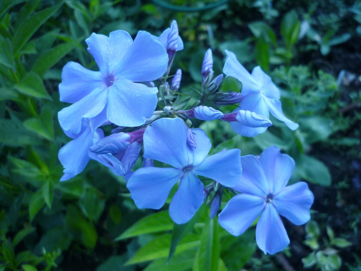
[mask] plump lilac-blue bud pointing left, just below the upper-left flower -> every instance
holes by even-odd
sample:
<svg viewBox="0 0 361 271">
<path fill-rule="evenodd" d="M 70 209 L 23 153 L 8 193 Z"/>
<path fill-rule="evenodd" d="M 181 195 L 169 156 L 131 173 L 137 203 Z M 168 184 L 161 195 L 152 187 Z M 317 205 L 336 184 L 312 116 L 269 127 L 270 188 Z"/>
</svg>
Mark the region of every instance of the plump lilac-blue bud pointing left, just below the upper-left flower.
<svg viewBox="0 0 361 271">
<path fill-rule="evenodd" d="M 125 150 L 131 142 L 131 136 L 127 133 L 111 134 L 104 137 L 90 147 L 90 151 L 95 154 L 116 154 Z"/>
</svg>

